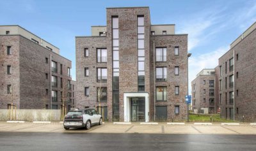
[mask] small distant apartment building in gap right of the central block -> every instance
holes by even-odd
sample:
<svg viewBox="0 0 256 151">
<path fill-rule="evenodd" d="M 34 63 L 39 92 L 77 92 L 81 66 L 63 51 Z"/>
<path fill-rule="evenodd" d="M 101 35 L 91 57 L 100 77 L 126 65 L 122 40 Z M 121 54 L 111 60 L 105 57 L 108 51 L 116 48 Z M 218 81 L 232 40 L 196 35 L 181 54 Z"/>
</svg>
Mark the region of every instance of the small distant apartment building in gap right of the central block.
<svg viewBox="0 0 256 151">
<path fill-rule="evenodd" d="M 216 113 L 215 69 L 203 69 L 191 82 L 194 113 Z"/>
</svg>

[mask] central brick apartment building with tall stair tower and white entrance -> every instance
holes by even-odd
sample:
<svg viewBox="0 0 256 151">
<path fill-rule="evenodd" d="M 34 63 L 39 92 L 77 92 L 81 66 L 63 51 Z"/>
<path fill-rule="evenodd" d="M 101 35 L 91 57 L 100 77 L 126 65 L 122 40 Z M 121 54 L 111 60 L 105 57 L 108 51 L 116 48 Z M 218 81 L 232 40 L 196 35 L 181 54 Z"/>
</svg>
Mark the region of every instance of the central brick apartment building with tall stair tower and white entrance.
<svg viewBox="0 0 256 151">
<path fill-rule="evenodd" d="M 75 106 L 105 121 L 186 120 L 188 34 L 152 25 L 148 7 L 106 13 L 106 26 L 76 37 Z"/>
</svg>

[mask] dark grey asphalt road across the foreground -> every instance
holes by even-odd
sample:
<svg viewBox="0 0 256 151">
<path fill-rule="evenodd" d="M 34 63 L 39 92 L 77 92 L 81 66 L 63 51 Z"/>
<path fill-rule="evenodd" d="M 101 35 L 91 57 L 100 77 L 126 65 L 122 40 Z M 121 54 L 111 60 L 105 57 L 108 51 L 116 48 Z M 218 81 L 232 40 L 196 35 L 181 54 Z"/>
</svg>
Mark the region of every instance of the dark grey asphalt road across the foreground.
<svg viewBox="0 0 256 151">
<path fill-rule="evenodd" d="M 0 150 L 256 150 L 256 135 L 0 132 Z"/>
</svg>

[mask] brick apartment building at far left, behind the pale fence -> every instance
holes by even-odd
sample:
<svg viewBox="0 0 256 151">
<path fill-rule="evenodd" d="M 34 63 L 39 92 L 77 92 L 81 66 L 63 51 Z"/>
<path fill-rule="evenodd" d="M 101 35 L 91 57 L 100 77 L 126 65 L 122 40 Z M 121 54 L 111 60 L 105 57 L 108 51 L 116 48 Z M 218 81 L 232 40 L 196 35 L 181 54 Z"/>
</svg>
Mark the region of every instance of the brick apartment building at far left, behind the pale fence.
<svg viewBox="0 0 256 151">
<path fill-rule="evenodd" d="M 19 25 L 0 25 L 0 108 L 60 109 L 71 105 L 71 61 Z"/>
</svg>

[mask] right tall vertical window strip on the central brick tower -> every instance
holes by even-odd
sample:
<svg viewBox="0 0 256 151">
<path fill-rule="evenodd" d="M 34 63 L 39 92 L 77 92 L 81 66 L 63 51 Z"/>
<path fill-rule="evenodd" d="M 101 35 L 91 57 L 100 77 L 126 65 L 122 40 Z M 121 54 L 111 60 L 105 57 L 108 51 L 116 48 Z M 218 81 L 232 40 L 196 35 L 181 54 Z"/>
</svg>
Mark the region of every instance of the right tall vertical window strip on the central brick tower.
<svg viewBox="0 0 256 151">
<path fill-rule="evenodd" d="M 145 91 L 144 16 L 138 16 L 138 91 Z"/>
</svg>

